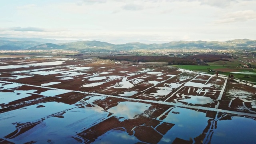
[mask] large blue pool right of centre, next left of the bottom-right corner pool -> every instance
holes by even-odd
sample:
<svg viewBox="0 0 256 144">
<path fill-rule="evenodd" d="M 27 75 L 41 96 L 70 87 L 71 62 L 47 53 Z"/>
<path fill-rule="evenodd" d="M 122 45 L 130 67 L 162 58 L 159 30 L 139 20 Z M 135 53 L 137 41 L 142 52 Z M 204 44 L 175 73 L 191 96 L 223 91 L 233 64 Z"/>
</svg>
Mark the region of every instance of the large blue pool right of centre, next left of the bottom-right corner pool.
<svg viewBox="0 0 256 144">
<path fill-rule="evenodd" d="M 172 112 L 178 112 L 179 114 Z M 163 121 L 175 125 L 163 136 L 159 144 L 170 144 L 175 138 L 184 140 L 195 138 L 202 134 L 208 125 L 207 121 L 209 119 L 203 112 L 186 108 L 173 108 Z"/>
</svg>

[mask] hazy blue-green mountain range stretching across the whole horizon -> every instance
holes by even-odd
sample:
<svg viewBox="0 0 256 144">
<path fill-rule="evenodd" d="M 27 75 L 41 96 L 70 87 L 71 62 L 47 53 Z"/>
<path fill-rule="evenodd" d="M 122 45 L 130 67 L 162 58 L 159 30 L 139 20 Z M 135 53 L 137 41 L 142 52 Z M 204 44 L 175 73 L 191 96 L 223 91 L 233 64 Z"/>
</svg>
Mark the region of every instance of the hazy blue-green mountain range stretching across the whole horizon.
<svg viewBox="0 0 256 144">
<path fill-rule="evenodd" d="M 163 44 L 131 42 L 110 44 L 100 41 L 69 41 L 43 38 L 0 38 L 0 50 L 156 50 L 156 49 L 244 49 L 256 48 L 256 40 L 236 39 L 219 41 L 173 41 Z"/>
</svg>

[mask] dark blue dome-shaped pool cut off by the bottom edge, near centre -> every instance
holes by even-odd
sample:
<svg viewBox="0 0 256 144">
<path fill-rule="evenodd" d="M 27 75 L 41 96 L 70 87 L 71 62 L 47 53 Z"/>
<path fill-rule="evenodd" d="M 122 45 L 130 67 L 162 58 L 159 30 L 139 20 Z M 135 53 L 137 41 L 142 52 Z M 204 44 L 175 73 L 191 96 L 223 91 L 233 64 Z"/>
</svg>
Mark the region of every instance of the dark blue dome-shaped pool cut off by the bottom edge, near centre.
<svg viewBox="0 0 256 144">
<path fill-rule="evenodd" d="M 130 136 L 127 132 L 121 130 L 110 130 L 99 136 L 93 143 L 94 144 L 136 144 L 140 142 L 135 136 Z"/>
</svg>

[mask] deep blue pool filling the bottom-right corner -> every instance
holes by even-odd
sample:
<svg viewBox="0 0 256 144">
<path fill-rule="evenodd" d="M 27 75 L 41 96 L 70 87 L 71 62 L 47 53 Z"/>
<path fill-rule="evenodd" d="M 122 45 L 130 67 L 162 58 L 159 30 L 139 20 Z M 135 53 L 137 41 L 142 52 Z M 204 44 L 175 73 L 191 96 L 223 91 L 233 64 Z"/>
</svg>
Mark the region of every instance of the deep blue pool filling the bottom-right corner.
<svg viewBox="0 0 256 144">
<path fill-rule="evenodd" d="M 212 135 L 212 144 L 254 144 L 256 121 L 233 116 L 232 120 L 219 120 Z"/>
</svg>

